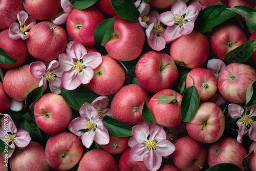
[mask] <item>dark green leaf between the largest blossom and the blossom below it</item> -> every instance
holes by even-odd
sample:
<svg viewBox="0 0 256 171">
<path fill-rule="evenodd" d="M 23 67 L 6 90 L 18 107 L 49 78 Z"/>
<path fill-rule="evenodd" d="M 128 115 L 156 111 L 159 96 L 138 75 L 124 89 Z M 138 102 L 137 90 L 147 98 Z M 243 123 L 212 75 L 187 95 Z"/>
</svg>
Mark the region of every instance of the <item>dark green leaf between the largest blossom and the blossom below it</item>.
<svg viewBox="0 0 256 171">
<path fill-rule="evenodd" d="M 85 102 L 92 103 L 99 96 L 83 86 L 79 86 L 75 90 L 61 89 L 60 92 L 65 101 L 78 111 Z"/>
</svg>

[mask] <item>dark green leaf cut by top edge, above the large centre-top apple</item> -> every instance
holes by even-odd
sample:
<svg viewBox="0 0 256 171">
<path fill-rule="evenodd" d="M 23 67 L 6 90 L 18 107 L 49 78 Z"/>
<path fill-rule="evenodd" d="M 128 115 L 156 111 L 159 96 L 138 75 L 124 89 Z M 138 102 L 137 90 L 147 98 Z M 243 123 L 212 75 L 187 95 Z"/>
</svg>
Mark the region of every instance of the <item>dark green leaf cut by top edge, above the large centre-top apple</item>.
<svg viewBox="0 0 256 171">
<path fill-rule="evenodd" d="M 111 0 L 111 3 L 118 16 L 137 22 L 140 12 L 131 0 Z"/>
</svg>

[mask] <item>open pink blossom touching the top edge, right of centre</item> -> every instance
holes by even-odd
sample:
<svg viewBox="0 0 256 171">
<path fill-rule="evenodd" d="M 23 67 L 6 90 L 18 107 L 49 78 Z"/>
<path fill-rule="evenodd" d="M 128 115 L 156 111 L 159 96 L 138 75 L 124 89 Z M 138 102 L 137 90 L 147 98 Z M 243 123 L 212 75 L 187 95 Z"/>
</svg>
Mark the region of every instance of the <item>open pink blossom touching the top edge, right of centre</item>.
<svg viewBox="0 0 256 171">
<path fill-rule="evenodd" d="M 191 33 L 195 26 L 195 21 L 199 14 L 199 9 L 195 5 L 187 6 L 184 1 L 177 1 L 173 4 L 170 11 L 159 15 L 161 23 L 167 26 L 164 31 L 166 42 Z"/>
</svg>

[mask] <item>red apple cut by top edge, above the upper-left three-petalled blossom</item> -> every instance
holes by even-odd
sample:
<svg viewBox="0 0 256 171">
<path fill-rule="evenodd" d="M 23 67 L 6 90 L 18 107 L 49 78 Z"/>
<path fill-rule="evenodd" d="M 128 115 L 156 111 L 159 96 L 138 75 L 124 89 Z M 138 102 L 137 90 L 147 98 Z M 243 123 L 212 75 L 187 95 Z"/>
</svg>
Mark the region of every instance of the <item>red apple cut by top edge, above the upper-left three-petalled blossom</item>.
<svg viewBox="0 0 256 171">
<path fill-rule="evenodd" d="M 24 2 L 26 12 L 38 20 L 47 20 L 60 9 L 60 0 L 26 0 Z"/>
</svg>

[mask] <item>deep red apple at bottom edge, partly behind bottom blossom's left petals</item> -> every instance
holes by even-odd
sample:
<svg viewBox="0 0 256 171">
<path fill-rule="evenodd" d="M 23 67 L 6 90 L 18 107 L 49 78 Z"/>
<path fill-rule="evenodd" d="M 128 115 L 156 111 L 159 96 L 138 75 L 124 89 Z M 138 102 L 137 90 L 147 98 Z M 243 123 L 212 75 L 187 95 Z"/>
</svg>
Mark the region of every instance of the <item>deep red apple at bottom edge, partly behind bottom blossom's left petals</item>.
<svg viewBox="0 0 256 171">
<path fill-rule="evenodd" d="M 119 171 L 147 171 L 148 169 L 146 168 L 146 165 L 143 161 L 132 161 L 130 159 L 131 149 L 131 147 L 127 148 L 121 155 L 118 162 Z"/>
</svg>

